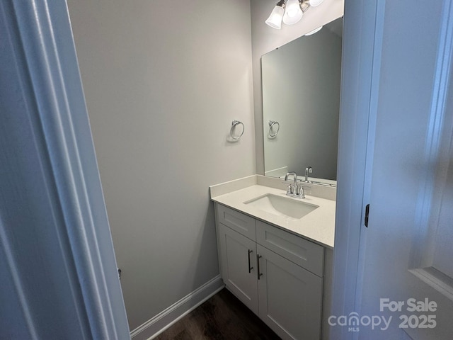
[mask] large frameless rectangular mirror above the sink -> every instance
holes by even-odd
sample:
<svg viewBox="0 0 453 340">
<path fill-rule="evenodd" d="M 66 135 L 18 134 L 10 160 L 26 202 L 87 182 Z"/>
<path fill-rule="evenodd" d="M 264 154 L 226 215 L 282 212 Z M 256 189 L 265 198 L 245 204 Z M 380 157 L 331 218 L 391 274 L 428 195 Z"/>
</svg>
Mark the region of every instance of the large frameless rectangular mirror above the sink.
<svg viewBox="0 0 453 340">
<path fill-rule="evenodd" d="M 342 32 L 338 18 L 261 58 L 265 175 L 336 183 Z"/>
</svg>

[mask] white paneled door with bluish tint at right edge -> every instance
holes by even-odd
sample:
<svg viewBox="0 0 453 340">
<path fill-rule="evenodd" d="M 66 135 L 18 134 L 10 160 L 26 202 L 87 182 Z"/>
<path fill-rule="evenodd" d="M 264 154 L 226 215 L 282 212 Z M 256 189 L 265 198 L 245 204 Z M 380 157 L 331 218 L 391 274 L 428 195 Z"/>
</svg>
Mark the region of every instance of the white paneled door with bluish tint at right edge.
<svg viewBox="0 0 453 340">
<path fill-rule="evenodd" d="M 357 314 L 331 319 L 357 339 L 453 339 L 453 4 L 425 5 L 384 8 Z"/>
</svg>

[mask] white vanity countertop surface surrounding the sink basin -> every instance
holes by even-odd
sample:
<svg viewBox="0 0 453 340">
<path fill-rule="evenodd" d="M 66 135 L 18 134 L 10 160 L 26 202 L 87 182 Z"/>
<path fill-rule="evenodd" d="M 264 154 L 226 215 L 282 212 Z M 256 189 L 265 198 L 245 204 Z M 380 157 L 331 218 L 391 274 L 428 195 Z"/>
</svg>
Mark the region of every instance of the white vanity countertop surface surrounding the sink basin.
<svg viewBox="0 0 453 340">
<path fill-rule="evenodd" d="M 333 241 L 335 237 L 335 200 L 306 195 L 306 198 L 302 200 L 306 203 L 319 205 L 319 208 L 316 208 L 314 211 L 300 219 L 277 216 L 251 205 L 244 204 L 244 202 L 257 198 L 258 196 L 263 196 L 266 193 L 289 198 L 289 196 L 286 196 L 286 191 L 284 190 L 254 184 L 247 186 L 246 188 L 241 188 L 239 190 L 211 197 L 211 199 L 214 200 L 214 202 L 226 205 L 227 207 L 235 210 L 239 210 L 247 215 L 251 215 L 258 220 L 268 222 L 271 225 L 275 225 L 276 227 L 280 227 L 288 232 L 302 236 L 317 244 L 321 244 L 321 246 L 333 249 Z M 301 200 L 300 198 L 289 199 Z"/>
</svg>

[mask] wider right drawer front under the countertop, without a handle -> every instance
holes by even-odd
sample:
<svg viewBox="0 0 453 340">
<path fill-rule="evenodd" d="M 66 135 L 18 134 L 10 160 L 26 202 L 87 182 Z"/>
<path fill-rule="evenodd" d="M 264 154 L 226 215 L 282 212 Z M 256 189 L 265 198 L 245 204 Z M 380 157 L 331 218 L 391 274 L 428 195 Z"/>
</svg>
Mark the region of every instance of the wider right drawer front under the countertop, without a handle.
<svg viewBox="0 0 453 340">
<path fill-rule="evenodd" d="M 324 249 L 319 244 L 261 221 L 256 221 L 256 242 L 311 273 L 323 276 Z"/>
</svg>

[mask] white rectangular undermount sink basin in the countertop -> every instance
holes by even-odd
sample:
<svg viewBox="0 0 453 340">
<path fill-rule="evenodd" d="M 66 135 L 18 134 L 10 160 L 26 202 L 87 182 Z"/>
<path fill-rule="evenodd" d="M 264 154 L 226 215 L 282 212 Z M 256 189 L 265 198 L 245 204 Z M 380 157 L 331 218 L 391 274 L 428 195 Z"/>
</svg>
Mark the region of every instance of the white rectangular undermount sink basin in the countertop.
<svg viewBox="0 0 453 340">
<path fill-rule="evenodd" d="M 270 212 L 273 215 L 297 219 L 319 208 L 319 205 L 306 203 L 302 200 L 296 200 L 286 196 L 273 195 L 272 193 L 253 198 L 244 202 L 244 204 Z"/>
</svg>

